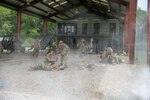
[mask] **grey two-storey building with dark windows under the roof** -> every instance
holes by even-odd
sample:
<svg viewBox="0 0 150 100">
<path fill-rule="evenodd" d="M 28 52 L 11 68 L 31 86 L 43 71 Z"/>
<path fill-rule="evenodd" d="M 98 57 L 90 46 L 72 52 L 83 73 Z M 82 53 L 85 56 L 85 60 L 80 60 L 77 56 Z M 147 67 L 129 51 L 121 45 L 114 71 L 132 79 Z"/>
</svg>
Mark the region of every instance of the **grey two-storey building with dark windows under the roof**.
<svg viewBox="0 0 150 100">
<path fill-rule="evenodd" d="M 122 47 L 122 41 L 118 37 L 120 36 L 117 19 L 105 19 L 86 13 L 75 19 L 57 22 L 58 41 L 63 40 L 71 48 L 76 48 L 77 43 L 84 38 L 96 53 L 106 46 L 119 49 Z"/>
</svg>

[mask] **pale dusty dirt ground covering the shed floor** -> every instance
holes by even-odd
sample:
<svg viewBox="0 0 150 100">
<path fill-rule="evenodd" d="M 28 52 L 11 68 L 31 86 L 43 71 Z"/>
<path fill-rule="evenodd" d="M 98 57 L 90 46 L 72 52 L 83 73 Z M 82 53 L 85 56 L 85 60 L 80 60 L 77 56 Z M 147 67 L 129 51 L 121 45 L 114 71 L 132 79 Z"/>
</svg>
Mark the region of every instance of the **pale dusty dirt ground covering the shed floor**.
<svg viewBox="0 0 150 100">
<path fill-rule="evenodd" d="M 43 63 L 31 52 L 0 58 L 0 100 L 150 100 L 149 68 L 99 63 L 97 55 L 71 52 L 68 68 L 31 71 Z"/>
</svg>

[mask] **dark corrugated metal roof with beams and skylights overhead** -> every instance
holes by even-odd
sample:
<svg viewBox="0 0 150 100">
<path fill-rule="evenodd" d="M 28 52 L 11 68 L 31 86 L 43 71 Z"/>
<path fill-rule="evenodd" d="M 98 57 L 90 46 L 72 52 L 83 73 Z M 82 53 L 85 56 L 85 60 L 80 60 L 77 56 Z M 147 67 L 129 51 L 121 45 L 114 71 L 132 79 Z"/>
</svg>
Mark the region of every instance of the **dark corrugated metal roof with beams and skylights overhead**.
<svg viewBox="0 0 150 100">
<path fill-rule="evenodd" d="M 0 5 L 37 17 L 67 20 L 85 12 L 105 18 L 124 18 L 129 0 L 0 0 Z"/>
</svg>

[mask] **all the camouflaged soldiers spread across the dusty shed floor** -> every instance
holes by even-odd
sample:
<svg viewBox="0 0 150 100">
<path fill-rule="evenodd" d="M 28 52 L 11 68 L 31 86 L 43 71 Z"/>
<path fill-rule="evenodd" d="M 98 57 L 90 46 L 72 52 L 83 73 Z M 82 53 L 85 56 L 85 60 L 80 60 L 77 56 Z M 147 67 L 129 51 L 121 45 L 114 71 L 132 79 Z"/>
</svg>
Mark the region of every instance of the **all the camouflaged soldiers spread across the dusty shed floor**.
<svg viewBox="0 0 150 100">
<path fill-rule="evenodd" d="M 77 48 L 79 49 L 79 56 L 82 57 L 83 55 L 87 54 L 88 44 L 85 39 L 81 39 L 78 44 Z M 2 44 L 0 44 L 0 50 L 2 50 Z M 33 57 L 38 57 L 40 51 L 40 44 L 39 40 L 35 39 L 34 43 L 32 44 Z M 59 41 L 57 45 L 57 49 L 51 49 L 47 55 L 45 56 L 44 64 L 38 64 L 32 66 L 32 69 L 42 69 L 42 70 L 63 70 L 67 67 L 67 59 L 70 53 L 70 48 L 67 44 L 63 41 Z M 100 59 L 102 62 L 113 63 L 116 61 L 114 57 L 113 49 L 111 47 L 105 48 L 103 53 L 100 55 Z"/>
</svg>

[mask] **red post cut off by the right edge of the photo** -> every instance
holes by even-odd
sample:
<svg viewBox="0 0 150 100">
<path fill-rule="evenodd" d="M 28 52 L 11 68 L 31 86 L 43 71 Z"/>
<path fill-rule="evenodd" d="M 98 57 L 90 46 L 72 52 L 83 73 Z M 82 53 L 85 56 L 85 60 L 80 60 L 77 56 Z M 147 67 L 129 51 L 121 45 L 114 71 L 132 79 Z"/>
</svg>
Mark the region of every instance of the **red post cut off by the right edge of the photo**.
<svg viewBox="0 0 150 100">
<path fill-rule="evenodd" d="M 148 0 L 147 64 L 150 65 L 150 0 Z"/>
</svg>

